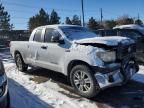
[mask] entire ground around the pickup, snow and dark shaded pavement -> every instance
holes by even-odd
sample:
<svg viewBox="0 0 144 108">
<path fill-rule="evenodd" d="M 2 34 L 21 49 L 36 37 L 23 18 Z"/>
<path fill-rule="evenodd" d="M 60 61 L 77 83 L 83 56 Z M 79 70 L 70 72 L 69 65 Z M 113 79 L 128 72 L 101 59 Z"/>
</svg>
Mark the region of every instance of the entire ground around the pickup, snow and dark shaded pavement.
<svg viewBox="0 0 144 108">
<path fill-rule="evenodd" d="M 0 50 L 7 76 L 12 108 L 142 108 L 144 107 L 144 66 L 133 81 L 114 87 L 89 100 L 75 94 L 66 77 L 46 69 L 19 72 L 9 50 Z"/>
</svg>

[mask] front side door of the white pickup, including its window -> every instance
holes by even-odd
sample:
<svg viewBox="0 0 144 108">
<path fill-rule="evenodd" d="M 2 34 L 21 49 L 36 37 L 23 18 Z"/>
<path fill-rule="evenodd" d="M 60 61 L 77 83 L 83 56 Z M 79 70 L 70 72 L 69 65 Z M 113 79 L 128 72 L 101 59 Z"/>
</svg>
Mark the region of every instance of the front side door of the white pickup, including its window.
<svg viewBox="0 0 144 108">
<path fill-rule="evenodd" d="M 62 61 L 64 59 L 65 44 L 60 44 L 53 41 L 55 36 L 62 38 L 61 34 L 53 28 L 46 28 L 44 35 L 44 43 L 42 44 L 40 52 L 42 54 L 41 61 L 44 63 L 44 67 L 62 72 Z"/>
</svg>

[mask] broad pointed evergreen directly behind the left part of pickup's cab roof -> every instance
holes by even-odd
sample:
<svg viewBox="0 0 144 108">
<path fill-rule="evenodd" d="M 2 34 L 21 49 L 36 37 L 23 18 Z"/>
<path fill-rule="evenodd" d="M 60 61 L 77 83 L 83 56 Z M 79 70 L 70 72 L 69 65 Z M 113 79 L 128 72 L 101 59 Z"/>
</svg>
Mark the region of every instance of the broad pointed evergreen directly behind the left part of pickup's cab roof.
<svg viewBox="0 0 144 108">
<path fill-rule="evenodd" d="M 45 12 L 44 9 L 40 9 L 39 13 L 35 16 L 32 16 L 28 22 L 28 28 L 32 31 L 34 28 L 38 26 L 48 25 L 49 22 L 49 15 Z"/>
</svg>

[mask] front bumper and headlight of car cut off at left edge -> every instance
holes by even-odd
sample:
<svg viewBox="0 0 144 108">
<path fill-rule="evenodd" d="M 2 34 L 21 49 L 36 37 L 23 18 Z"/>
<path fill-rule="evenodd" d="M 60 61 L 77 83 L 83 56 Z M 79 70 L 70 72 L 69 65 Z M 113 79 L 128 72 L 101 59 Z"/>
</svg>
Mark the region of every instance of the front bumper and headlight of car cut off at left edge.
<svg viewBox="0 0 144 108">
<path fill-rule="evenodd" d="M 6 75 L 0 76 L 0 89 L 0 108 L 7 108 L 9 100 Z"/>
</svg>

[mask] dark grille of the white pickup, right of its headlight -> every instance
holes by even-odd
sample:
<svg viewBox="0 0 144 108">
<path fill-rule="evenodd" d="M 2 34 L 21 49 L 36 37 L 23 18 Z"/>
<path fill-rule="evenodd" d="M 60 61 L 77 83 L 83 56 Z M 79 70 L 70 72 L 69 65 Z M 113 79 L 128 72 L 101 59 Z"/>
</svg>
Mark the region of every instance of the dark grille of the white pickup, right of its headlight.
<svg viewBox="0 0 144 108">
<path fill-rule="evenodd" d="M 122 60 L 124 57 L 136 52 L 136 45 L 119 46 L 117 49 L 117 59 Z"/>
</svg>

